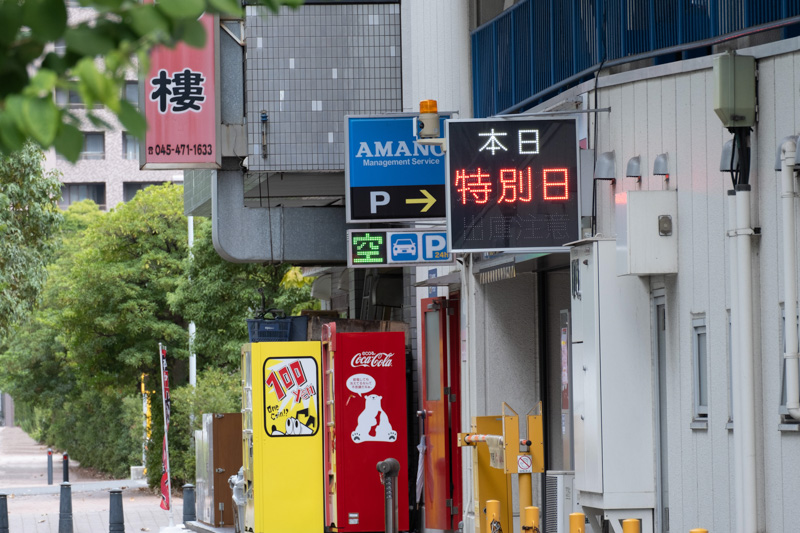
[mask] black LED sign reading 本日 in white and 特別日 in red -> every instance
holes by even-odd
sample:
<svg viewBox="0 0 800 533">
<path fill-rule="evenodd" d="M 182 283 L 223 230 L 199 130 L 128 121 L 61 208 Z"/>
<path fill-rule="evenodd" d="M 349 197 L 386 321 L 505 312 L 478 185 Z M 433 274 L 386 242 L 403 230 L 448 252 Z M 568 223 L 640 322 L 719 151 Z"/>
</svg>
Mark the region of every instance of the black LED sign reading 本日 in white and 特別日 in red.
<svg viewBox="0 0 800 533">
<path fill-rule="evenodd" d="M 449 120 L 451 252 L 566 251 L 578 240 L 574 118 Z"/>
</svg>

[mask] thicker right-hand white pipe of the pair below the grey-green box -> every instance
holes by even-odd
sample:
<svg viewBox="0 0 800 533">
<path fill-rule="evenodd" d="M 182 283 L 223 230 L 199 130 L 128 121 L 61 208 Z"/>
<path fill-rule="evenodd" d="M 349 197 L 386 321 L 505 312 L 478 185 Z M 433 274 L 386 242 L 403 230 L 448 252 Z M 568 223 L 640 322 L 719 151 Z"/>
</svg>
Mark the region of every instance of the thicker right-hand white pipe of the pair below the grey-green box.
<svg viewBox="0 0 800 533">
<path fill-rule="evenodd" d="M 736 255 L 739 311 L 739 398 L 741 420 L 736 421 L 736 431 L 742 432 L 740 460 L 742 462 L 743 531 L 755 533 L 758 527 L 756 490 L 756 402 L 755 363 L 753 360 L 753 229 L 750 227 L 750 184 L 736 185 Z"/>
</svg>

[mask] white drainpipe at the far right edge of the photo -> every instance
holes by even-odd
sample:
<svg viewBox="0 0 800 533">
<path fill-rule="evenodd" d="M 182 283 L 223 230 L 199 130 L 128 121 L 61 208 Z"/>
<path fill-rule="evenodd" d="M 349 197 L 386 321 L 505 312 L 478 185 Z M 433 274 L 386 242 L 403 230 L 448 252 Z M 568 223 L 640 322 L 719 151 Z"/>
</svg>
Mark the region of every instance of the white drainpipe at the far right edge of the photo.
<svg viewBox="0 0 800 533">
<path fill-rule="evenodd" d="M 797 143 L 787 139 L 781 145 L 781 206 L 783 211 L 783 309 L 786 351 L 786 409 L 800 420 L 800 385 L 797 339 L 797 244 L 795 240 L 794 164 Z"/>
</svg>

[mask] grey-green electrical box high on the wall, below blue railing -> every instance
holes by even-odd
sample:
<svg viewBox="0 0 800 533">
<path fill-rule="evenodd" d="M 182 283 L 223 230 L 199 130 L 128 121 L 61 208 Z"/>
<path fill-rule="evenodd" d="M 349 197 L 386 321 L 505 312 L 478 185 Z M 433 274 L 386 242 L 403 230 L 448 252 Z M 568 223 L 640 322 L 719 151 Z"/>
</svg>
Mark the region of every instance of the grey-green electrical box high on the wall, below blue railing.
<svg viewBox="0 0 800 533">
<path fill-rule="evenodd" d="M 714 112 L 726 128 L 756 123 L 756 58 L 733 52 L 714 58 Z"/>
</svg>

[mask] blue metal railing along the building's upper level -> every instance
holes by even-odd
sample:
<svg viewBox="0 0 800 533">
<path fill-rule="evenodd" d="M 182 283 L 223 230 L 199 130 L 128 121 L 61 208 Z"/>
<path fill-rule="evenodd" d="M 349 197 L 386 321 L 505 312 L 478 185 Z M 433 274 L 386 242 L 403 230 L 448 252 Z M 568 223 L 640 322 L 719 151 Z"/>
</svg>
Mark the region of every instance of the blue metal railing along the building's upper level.
<svg viewBox="0 0 800 533">
<path fill-rule="evenodd" d="M 800 0 L 524 0 L 472 32 L 473 113 L 512 113 L 610 66 L 710 53 L 738 34 L 798 34 Z"/>
</svg>

